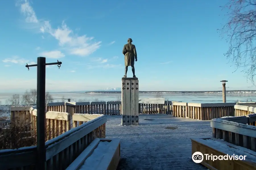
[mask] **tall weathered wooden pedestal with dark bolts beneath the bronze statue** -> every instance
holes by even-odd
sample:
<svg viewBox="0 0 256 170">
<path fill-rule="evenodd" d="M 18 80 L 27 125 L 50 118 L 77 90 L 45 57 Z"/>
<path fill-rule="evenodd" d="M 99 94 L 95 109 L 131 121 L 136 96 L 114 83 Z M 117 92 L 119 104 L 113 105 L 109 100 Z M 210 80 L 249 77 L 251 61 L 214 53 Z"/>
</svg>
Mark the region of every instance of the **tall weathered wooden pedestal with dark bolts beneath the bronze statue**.
<svg viewBox="0 0 256 170">
<path fill-rule="evenodd" d="M 139 125 L 139 80 L 122 78 L 122 125 Z"/>
</svg>

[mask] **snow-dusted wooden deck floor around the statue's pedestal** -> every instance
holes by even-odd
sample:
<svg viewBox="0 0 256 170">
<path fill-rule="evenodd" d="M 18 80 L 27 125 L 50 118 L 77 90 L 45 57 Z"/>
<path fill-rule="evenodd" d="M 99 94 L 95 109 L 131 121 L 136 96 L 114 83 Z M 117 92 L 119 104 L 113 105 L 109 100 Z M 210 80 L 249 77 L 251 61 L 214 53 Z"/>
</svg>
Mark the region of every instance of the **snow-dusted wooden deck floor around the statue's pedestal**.
<svg viewBox="0 0 256 170">
<path fill-rule="evenodd" d="M 139 126 L 121 126 L 121 115 L 107 118 L 106 138 L 121 138 L 121 160 L 117 170 L 207 169 L 192 161 L 190 138 L 212 136 L 210 121 L 140 114 Z"/>
</svg>

